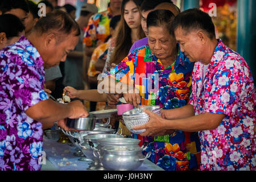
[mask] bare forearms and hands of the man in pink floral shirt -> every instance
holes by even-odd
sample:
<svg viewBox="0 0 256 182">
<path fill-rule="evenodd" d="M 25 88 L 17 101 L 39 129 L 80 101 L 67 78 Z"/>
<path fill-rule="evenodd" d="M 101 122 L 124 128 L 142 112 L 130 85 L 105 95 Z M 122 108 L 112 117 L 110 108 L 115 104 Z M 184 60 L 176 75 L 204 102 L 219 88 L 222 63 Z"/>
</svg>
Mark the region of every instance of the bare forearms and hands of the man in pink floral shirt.
<svg viewBox="0 0 256 182">
<path fill-rule="evenodd" d="M 162 136 L 170 134 L 170 130 L 187 132 L 213 130 L 225 117 L 225 114 L 213 113 L 193 115 L 193 106 L 190 104 L 177 109 L 162 110 L 162 115 L 166 119 L 148 110 L 144 112 L 150 116 L 150 121 L 145 125 L 134 127 L 135 130 L 146 129 L 142 136 Z"/>
</svg>

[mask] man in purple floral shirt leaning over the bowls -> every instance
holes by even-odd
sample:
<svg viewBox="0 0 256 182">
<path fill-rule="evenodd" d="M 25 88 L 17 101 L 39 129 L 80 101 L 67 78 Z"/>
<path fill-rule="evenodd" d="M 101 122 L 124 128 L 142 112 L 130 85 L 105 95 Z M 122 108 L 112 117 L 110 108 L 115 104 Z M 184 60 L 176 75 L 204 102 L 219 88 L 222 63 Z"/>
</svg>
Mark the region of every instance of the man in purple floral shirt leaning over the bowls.
<svg viewBox="0 0 256 182">
<path fill-rule="evenodd" d="M 48 99 L 44 68 L 65 61 L 80 35 L 63 11 L 49 13 L 31 34 L 0 51 L 0 170 L 40 170 L 43 129 L 64 118 L 88 115 L 80 101 L 69 105 Z"/>
</svg>

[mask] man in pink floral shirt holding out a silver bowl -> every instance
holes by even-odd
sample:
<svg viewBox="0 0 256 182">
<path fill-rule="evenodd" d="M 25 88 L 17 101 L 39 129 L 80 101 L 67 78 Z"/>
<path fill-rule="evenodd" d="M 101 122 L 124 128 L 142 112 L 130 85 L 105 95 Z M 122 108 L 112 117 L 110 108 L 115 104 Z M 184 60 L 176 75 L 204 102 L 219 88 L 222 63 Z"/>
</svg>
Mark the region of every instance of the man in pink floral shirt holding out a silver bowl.
<svg viewBox="0 0 256 182">
<path fill-rule="evenodd" d="M 212 20 L 203 11 L 183 11 L 172 26 L 181 51 L 196 62 L 190 101 L 163 110 L 163 118 L 146 110 L 150 121 L 134 129 L 152 136 L 170 129 L 199 131 L 201 170 L 255 170 L 256 94 L 249 66 L 216 40 Z"/>
</svg>

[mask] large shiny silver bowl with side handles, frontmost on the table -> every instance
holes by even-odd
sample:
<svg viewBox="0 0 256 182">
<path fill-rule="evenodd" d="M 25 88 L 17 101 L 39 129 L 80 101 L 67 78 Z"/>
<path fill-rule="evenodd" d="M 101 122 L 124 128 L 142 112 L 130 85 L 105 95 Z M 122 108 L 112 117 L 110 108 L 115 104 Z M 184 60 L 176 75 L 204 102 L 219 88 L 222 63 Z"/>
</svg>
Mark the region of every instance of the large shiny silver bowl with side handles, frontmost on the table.
<svg viewBox="0 0 256 182">
<path fill-rule="evenodd" d="M 139 139 L 133 138 L 102 138 L 98 139 L 97 148 L 94 147 L 93 155 L 96 156 L 104 168 L 109 170 L 127 171 L 137 169 L 151 153 L 146 156 L 142 151 L 147 144 L 139 147 Z"/>
</svg>

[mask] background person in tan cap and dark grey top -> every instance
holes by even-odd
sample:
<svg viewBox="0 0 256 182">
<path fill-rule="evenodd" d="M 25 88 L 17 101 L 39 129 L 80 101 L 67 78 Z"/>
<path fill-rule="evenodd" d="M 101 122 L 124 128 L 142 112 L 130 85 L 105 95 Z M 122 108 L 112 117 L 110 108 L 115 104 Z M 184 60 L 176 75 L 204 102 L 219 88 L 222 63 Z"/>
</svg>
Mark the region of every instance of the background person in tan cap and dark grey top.
<svg viewBox="0 0 256 182">
<path fill-rule="evenodd" d="M 86 4 L 82 6 L 80 16 L 76 21 L 79 24 L 81 32 L 83 32 L 84 28 L 87 26 L 90 17 L 95 13 L 98 13 L 96 5 Z M 68 54 L 64 67 L 65 72 L 63 85 L 72 86 L 77 90 L 84 89 L 84 81 L 82 79 L 82 59 L 84 56 L 84 51 L 82 47 L 83 38 L 83 34 L 81 34 L 79 38 L 79 43 L 76 45 L 74 51 Z"/>
</svg>

